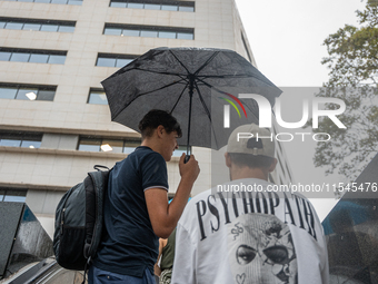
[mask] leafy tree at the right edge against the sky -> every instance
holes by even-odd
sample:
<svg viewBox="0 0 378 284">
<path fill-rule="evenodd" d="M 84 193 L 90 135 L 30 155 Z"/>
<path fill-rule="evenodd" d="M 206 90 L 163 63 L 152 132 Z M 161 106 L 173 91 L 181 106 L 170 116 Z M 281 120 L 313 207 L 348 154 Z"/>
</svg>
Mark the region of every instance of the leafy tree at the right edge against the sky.
<svg viewBox="0 0 378 284">
<path fill-rule="evenodd" d="M 326 174 L 338 170 L 348 180 L 355 180 L 378 153 L 378 1 L 368 1 L 356 13 L 360 27 L 346 25 L 324 41 L 329 57 L 321 63 L 330 72 L 317 95 L 345 101 L 346 111 L 338 118 L 347 128 L 339 129 L 325 117 L 314 129 L 331 136 L 330 141 L 317 144 L 315 165 L 325 167 Z M 326 109 L 337 108 L 326 105 Z"/>
</svg>

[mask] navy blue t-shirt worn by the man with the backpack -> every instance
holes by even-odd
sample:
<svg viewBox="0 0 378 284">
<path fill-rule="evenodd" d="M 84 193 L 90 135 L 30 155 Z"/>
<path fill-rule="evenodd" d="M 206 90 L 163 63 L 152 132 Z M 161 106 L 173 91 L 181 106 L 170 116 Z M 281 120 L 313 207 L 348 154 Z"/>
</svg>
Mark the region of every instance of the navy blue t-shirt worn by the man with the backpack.
<svg viewBox="0 0 378 284">
<path fill-rule="evenodd" d="M 140 146 L 110 172 L 105 197 L 105 234 L 93 265 L 100 270 L 142 277 L 153 273 L 159 238 L 148 215 L 145 190 L 168 190 L 163 157 Z"/>
</svg>

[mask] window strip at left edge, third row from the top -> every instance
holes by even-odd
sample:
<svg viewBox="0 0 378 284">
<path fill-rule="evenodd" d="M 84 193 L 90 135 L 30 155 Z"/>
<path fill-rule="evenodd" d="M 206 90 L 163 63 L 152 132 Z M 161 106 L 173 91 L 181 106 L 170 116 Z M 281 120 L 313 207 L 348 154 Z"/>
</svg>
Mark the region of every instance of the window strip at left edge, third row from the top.
<svg viewBox="0 0 378 284">
<path fill-rule="evenodd" d="M 1 61 L 63 65 L 67 51 L 0 48 Z"/>
</svg>

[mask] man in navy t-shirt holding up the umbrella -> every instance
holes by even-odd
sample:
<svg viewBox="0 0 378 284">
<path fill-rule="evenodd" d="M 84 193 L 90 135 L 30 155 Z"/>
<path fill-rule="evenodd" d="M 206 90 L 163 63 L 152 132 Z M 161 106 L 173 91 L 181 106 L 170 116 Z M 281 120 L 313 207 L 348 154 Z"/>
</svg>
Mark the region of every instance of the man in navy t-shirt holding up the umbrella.
<svg viewBox="0 0 378 284">
<path fill-rule="evenodd" d="M 199 174 L 191 155 L 180 157 L 181 180 L 175 199 L 168 204 L 166 161 L 178 148 L 181 136 L 176 118 L 151 110 L 139 123 L 141 146 L 116 164 L 105 198 L 105 235 L 89 270 L 89 284 L 153 284 L 153 264 L 159 237 L 175 229 Z"/>
</svg>

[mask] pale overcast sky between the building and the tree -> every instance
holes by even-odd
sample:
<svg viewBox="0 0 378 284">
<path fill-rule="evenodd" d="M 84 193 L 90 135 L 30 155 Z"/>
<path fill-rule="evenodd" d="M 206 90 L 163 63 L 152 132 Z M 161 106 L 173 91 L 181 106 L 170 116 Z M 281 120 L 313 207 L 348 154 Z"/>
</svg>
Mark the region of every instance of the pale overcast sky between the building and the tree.
<svg viewBox="0 0 378 284">
<path fill-rule="evenodd" d="M 327 48 L 322 46 L 324 40 L 346 23 L 358 26 L 355 11 L 364 10 L 365 2 L 236 0 L 236 3 L 258 69 L 276 86 L 292 87 L 285 88 L 287 91 L 281 95 L 282 119 L 298 121 L 301 117 L 302 97 L 306 96 L 311 101 L 314 89 L 309 87 L 321 87 L 328 80 L 329 70 L 321 65 L 321 59 L 328 56 Z M 284 128 L 280 130 L 290 131 Z M 310 128 L 307 130 L 311 131 Z M 316 143 L 311 139 L 284 145 L 295 182 L 344 182 L 342 177 L 326 176 L 324 168 L 314 166 L 315 146 Z M 322 221 L 337 199 L 330 196 L 311 198 L 311 202 Z"/>
</svg>

